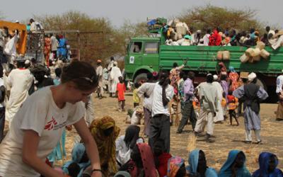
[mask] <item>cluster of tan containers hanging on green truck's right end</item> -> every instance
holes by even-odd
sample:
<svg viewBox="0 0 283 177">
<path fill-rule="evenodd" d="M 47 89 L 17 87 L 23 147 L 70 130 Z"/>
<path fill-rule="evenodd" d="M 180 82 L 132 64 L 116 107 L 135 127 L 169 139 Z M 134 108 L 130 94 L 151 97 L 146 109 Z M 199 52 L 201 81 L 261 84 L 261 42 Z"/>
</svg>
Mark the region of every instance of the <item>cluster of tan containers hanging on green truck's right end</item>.
<svg viewBox="0 0 283 177">
<path fill-rule="evenodd" d="M 268 59 L 270 57 L 270 52 L 265 50 L 265 43 L 258 42 L 255 48 L 248 48 L 246 52 L 240 57 L 242 63 L 246 62 L 259 62 L 260 57 Z"/>
</svg>

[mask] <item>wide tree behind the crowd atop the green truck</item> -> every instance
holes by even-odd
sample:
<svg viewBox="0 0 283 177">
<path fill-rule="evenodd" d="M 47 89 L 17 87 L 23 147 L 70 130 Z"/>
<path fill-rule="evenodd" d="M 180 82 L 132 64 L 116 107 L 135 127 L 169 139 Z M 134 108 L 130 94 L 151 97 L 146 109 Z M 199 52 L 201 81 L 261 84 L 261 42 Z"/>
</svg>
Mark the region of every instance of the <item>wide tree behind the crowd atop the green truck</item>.
<svg viewBox="0 0 283 177">
<path fill-rule="evenodd" d="M 203 30 L 216 27 L 220 27 L 221 29 L 233 28 L 236 30 L 250 30 L 250 28 L 262 30 L 263 25 L 255 19 L 256 14 L 256 11 L 250 8 L 237 10 L 209 4 L 190 8 L 180 14 L 178 18 L 189 26 Z"/>
</svg>

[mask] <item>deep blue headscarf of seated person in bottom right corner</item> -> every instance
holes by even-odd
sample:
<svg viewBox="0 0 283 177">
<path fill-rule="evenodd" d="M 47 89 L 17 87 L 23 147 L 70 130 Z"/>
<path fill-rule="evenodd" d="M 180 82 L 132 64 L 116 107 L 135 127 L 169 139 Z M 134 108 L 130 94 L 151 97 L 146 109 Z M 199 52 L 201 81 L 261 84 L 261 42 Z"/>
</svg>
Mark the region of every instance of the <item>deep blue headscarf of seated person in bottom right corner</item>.
<svg viewBox="0 0 283 177">
<path fill-rule="evenodd" d="M 270 156 L 275 155 L 270 152 L 262 152 L 258 158 L 260 163 L 260 169 L 253 173 L 254 177 L 283 177 L 283 173 L 280 169 L 275 169 L 272 173 L 268 172 Z M 278 159 L 275 158 L 275 165 L 278 165 Z"/>
</svg>

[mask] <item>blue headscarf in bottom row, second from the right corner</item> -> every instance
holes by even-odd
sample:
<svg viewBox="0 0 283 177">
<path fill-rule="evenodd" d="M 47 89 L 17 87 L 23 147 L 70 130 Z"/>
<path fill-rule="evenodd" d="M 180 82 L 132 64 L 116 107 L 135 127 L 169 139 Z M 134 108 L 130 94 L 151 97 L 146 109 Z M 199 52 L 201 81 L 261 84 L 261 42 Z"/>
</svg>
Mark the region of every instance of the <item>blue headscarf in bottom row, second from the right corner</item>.
<svg viewBox="0 0 283 177">
<path fill-rule="evenodd" d="M 236 160 L 237 155 L 239 154 L 238 150 L 232 150 L 229 152 L 228 159 L 226 160 L 225 164 L 221 167 L 218 176 L 219 177 L 226 177 L 231 176 L 231 165 Z M 250 177 L 250 172 L 248 171 L 246 167 L 246 156 L 245 156 L 245 162 L 243 164 L 243 167 L 241 169 L 237 170 L 236 177 Z"/>
</svg>

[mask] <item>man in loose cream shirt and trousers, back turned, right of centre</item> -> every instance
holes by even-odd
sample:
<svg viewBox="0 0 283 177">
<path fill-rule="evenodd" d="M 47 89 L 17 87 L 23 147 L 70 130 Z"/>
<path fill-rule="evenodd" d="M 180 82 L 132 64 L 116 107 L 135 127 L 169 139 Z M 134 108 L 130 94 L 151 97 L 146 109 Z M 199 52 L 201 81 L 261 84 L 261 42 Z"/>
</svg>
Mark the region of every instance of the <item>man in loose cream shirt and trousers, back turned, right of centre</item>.
<svg viewBox="0 0 283 177">
<path fill-rule="evenodd" d="M 203 82 L 198 86 L 200 96 L 200 116 L 195 125 L 195 135 L 200 135 L 200 132 L 204 130 L 205 124 L 207 124 L 207 134 L 205 138 L 207 142 L 214 142 L 211 139 L 214 131 L 213 119 L 216 112 L 219 110 L 217 104 L 217 89 L 216 86 L 212 84 L 212 81 L 212 74 L 207 74 L 207 82 Z"/>
</svg>

